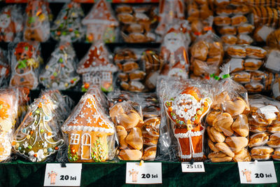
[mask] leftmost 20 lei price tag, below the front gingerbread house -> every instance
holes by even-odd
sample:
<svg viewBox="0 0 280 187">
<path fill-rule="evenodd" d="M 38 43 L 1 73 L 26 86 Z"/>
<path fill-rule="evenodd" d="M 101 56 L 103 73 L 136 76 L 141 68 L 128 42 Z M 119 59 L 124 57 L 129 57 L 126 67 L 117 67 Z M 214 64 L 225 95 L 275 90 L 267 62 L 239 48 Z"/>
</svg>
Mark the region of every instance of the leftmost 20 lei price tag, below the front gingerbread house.
<svg viewBox="0 0 280 187">
<path fill-rule="evenodd" d="M 44 186 L 80 186 L 82 164 L 47 164 Z"/>
</svg>

